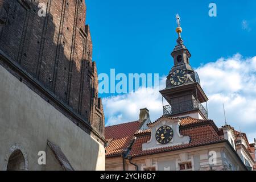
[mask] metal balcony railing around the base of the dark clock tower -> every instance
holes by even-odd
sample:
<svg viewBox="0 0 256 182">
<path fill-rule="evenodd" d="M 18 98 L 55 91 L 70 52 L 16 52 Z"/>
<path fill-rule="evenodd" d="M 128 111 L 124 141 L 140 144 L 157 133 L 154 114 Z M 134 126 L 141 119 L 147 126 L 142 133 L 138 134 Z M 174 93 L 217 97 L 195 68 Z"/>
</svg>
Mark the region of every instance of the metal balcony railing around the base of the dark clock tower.
<svg viewBox="0 0 256 182">
<path fill-rule="evenodd" d="M 177 114 L 194 109 L 199 109 L 201 113 L 204 114 L 205 118 L 208 119 L 207 110 L 205 110 L 204 106 L 197 100 L 178 102 L 163 107 L 164 115 Z"/>
</svg>

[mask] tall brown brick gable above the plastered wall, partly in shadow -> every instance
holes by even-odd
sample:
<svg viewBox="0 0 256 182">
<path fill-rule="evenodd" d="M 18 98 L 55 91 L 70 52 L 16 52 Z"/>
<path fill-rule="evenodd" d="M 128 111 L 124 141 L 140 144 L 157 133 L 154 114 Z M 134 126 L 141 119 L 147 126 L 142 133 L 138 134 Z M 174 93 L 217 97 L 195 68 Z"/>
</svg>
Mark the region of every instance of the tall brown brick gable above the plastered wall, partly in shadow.
<svg viewBox="0 0 256 182">
<path fill-rule="evenodd" d="M 45 3 L 46 17 L 38 15 L 39 3 Z M 0 49 L 103 133 L 85 15 L 83 0 L 0 0 Z"/>
</svg>

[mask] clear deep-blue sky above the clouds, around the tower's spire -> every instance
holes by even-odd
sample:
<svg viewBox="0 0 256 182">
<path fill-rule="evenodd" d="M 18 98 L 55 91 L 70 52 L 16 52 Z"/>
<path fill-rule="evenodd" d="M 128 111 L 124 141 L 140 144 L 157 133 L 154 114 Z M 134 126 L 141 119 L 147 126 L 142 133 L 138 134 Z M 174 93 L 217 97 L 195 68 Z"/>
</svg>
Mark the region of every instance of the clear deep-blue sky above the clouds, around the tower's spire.
<svg viewBox="0 0 256 182">
<path fill-rule="evenodd" d="M 181 3 L 182 2 L 182 3 Z M 217 17 L 208 5 L 215 2 Z M 232 56 L 255 53 L 256 1 L 86 0 L 98 72 L 167 74 L 176 44 L 175 14 L 181 16 L 184 44 L 192 67 Z M 242 29 L 242 21 L 250 31 Z"/>
</svg>

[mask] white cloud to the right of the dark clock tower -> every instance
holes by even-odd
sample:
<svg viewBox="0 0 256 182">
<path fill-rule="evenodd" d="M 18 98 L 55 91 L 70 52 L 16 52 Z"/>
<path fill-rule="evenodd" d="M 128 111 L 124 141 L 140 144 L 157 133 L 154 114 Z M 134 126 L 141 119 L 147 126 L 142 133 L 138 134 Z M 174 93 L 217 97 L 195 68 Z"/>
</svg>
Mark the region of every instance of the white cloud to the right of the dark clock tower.
<svg viewBox="0 0 256 182">
<path fill-rule="evenodd" d="M 197 68 L 202 87 L 209 97 L 209 118 L 224 125 L 225 104 L 228 124 L 247 133 L 251 142 L 256 132 L 256 56 L 240 54 L 221 58 Z"/>
</svg>

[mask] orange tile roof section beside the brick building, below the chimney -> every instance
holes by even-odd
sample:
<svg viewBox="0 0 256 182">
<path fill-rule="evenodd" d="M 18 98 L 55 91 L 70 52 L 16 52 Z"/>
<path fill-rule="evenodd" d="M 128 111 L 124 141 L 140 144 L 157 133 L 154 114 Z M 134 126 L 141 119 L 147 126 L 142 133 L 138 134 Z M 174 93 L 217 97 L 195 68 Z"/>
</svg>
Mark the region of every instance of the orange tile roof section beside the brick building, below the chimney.
<svg viewBox="0 0 256 182">
<path fill-rule="evenodd" d="M 106 156 L 121 155 L 140 127 L 139 121 L 105 127 L 105 138 L 109 142 L 105 148 Z"/>
</svg>

